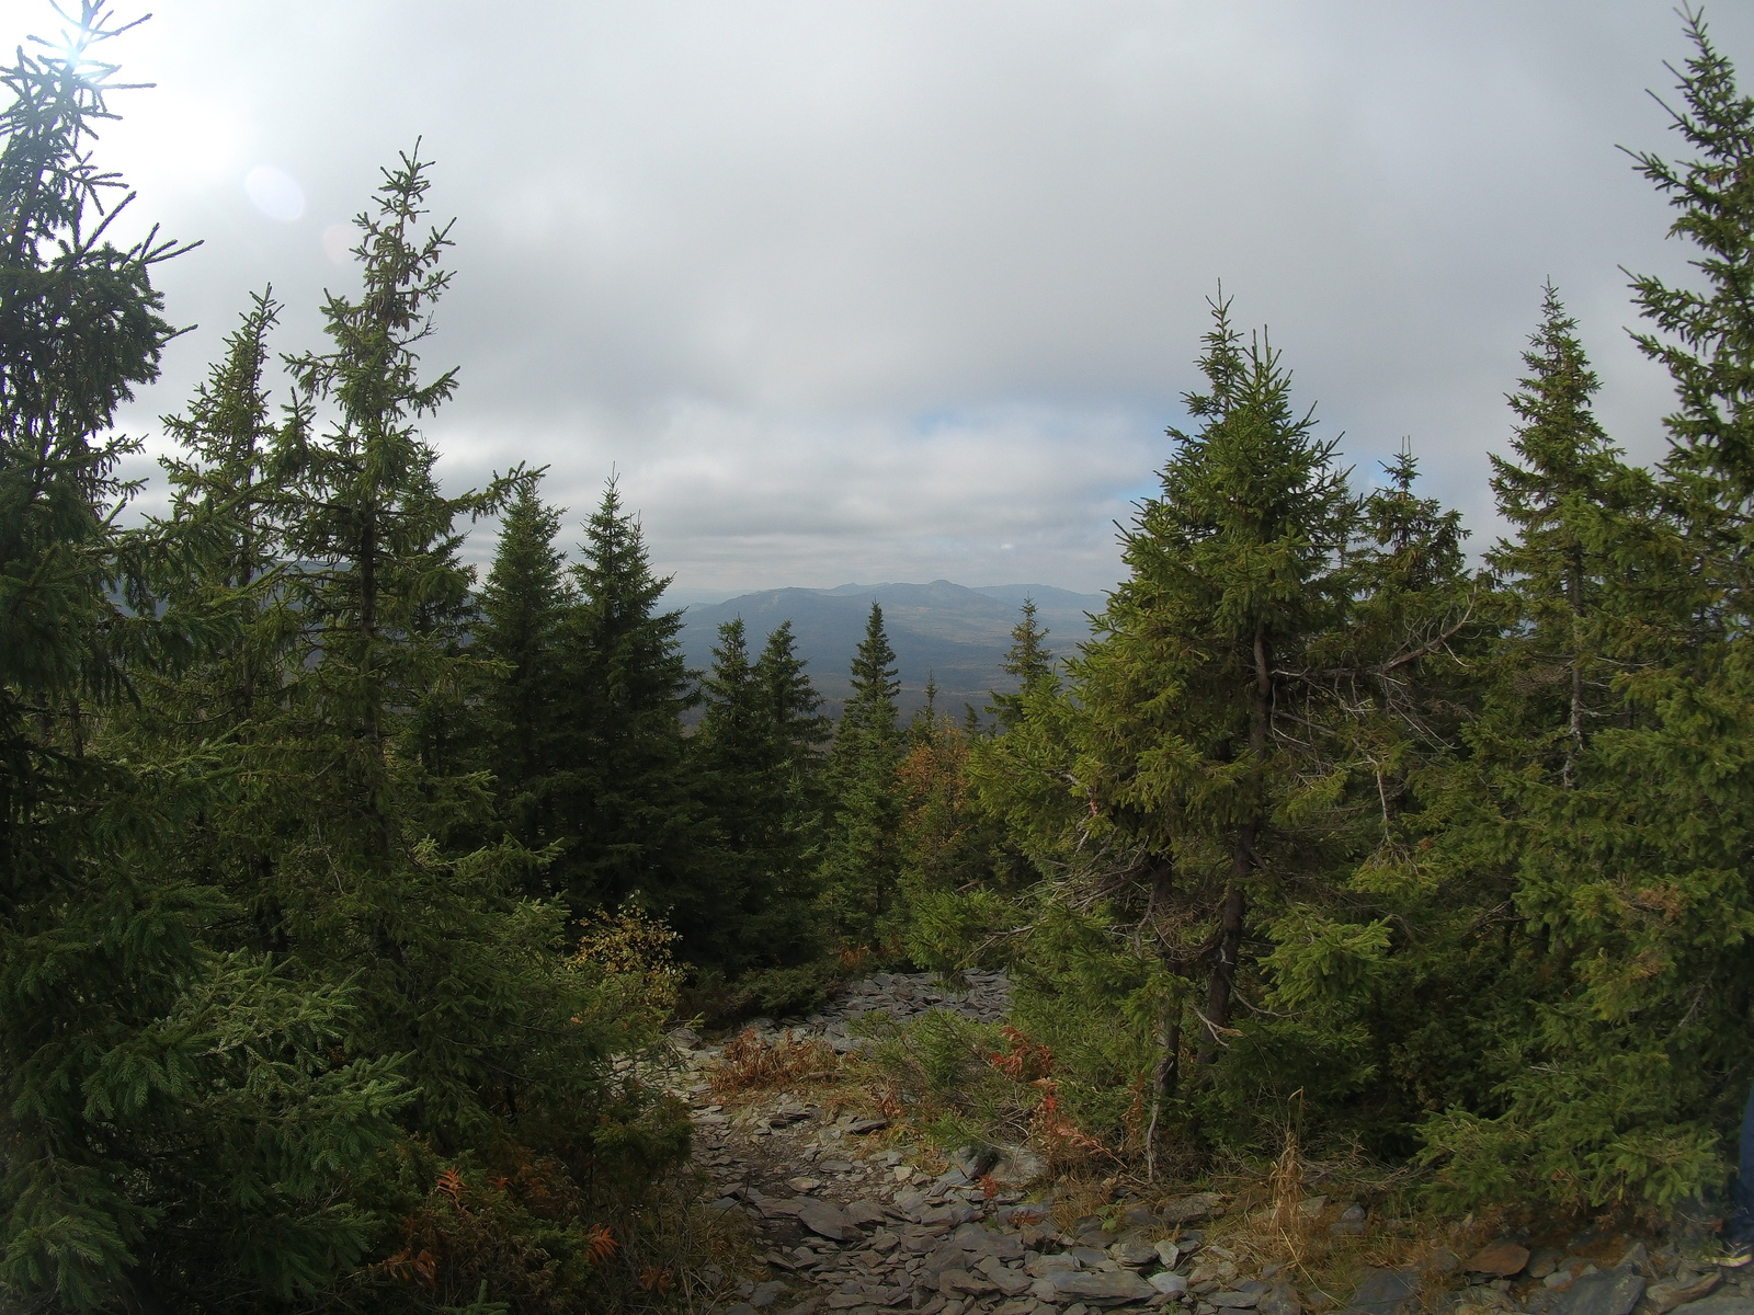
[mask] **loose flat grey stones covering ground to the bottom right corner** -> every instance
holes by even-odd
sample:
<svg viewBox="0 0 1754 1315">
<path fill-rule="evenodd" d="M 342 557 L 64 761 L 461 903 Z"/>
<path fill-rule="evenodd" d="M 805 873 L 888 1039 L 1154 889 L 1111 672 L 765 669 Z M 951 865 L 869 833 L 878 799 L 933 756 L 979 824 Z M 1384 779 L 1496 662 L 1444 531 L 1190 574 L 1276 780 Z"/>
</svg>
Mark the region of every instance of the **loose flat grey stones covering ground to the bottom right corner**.
<svg viewBox="0 0 1754 1315">
<path fill-rule="evenodd" d="M 1002 973 L 970 973 L 952 992 L 928 975 L 881 973 L 805 1019 L 752 1024 L 765 1047 L 868 1041 L 854 1020 L 905 1020 L 951 1008 L 986 1022 L 1007 1013 Z M 724 1038 L 674 1034 L 688 1061 L 679 1084 L 693 1106 L 696 1164 L 712 1208 L 747 1215 L 754 1276 L 721 1315 L 1754 1315 L 1754 1269 L 1703 1259 L 1708 1247 L 1584 1233 L 1558 1247 L 1507 1236 L 1458 1257 L 1424 1248 L 1417 1268 L 1366 1268 L 1349 1292 L 1316 1290 L 1307 1273 L 1254 1264 L 1230 1241 L 1223 1196 L 1117 1203 L 1066 1226 L 1040 1164 L 1016 1152 L 968 1152 L 949 1169 L 930 1154 L 886 1145 L 888 1120 L 812 1103 L 807 1084 L 714 1099 L 709 1082 Z M 744 1040 L 747 1052 L 751 1040 Z M 919 1161 L 924 1161 L 919 1162 Z M 1365 1234 L 1379 1220 L 1354 1203 L 1308 1198 L 1312 1233 Z M 1056 1222 L 1059 1220 L 1059 1222 Z M 1210 1241 L 1207 1234 L 1212 1234 Z"/>
</svg>

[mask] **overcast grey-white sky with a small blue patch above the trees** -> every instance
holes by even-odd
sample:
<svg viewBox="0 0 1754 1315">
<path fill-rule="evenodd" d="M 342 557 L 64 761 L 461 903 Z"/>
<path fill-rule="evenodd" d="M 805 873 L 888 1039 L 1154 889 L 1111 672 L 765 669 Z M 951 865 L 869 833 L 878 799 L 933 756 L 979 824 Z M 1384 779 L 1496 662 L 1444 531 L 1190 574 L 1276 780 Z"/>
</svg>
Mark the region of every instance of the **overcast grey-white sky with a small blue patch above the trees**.
<svg viewBox="0 0 1754 1315">
<path fill-rule="evenodd" d="M 1754 75 L 1754 9 L 1707 18 Z M 198 328 L 126 423 L 249 289 L 314 344 L 337 226 L 423 137 L 446 480 L 545 463 L 577 519 L 619 470 L 684 589 L 1112 584 L 1221 279 L 1361 479 L 1407 437 L 1489 535 L 1547 277 L 1661 454 L 1619 267 L 1687 252 L 1615 147 L 1679 149 L 1645 89 L 1686 51 L 1665 0 L 168 0 L 100 158 L 203 240 L 161 279 Z"/>
</svg>

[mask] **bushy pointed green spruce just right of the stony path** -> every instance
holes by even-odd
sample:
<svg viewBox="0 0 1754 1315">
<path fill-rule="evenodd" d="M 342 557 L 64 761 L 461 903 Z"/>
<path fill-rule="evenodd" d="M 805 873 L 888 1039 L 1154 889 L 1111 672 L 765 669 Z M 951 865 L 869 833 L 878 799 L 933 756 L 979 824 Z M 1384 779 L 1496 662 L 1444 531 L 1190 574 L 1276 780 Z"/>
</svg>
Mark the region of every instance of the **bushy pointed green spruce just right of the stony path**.
<svg viewBox="0 0 1754 1315">
<path fill-rule="evenodd" d="M 1333 622 L 1354 522 L 1333 444 L 1291 409 L 1279 354 L 1242 340 L 1228 302 L 1212 316 L 1209 391 L 1186 398 L 1201 428 L 1170 431 L 1163 493 L 1123 537 L 1131 573 L 1073 663 L 1093 808 L 1151 856 L 1152 903 L 1200 910 L 1205 989 L 1189 1012 L 1203 1063 L 1231 1026 L 1251 910 L 1298 875 L 1273 828 L 1294 777 L 1282 728 L 1303 698 L 1284 672 Z"/>
</svg>

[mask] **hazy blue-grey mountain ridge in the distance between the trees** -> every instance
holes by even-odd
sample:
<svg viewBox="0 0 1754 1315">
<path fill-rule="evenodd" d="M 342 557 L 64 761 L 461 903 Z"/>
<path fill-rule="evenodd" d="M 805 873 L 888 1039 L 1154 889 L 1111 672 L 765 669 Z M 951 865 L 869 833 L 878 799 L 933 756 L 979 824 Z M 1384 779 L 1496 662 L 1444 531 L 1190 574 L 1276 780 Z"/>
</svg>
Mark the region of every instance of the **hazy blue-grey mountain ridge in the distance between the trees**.
<svg viewBox="0 0 1754 1315">
<path fill-rule="evenodd" d="M 938 686 L 938 707 L 959 714 L 963 703 L 980 708 L 993 689 L 1014 687 L 1000 661 L 1010 647 L 1010 629 L 1024 598 L 1033 598 L 1037 622 L 1049 631 L 1047 647 L 1065 658 L 1089 636 L 1086 614 L 1100 612 L 1103 594 L 1080 594 L 1051 584 L 988 584 L 968 587 L 951 580 L 931 584 L 842 584 L 833 589 L 763 589 L 723 603 L 693 605 L 682 614 L 682 652 L 688 665 L 707 670 L 719 624 L 742 617 L 751 654 L 770 631 L 791 621 L 798 652 L 810 679 L 828 700 L 830 715 L 851 694 L 847 670 L 865 638 L 870 605 L 882 607 L 884 629 L 896 656 L 902 710 L 924 703 L 928 675 Z"/>
</svg>

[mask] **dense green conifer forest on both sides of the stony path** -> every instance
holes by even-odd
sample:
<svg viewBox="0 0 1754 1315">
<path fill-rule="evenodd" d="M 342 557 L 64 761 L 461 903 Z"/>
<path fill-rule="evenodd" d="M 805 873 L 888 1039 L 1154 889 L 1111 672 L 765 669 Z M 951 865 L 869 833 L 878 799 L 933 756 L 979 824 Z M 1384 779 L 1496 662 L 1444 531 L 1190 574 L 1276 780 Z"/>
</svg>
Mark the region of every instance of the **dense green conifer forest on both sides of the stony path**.
<svg viewBox="0 0 1754 1315">
<path fill-rule="evenodd" d="M 907 717 L 872 607 L 830 719 L 789 622 L 726 622 L 688 668 L 614 479 L 581 519 L 535 465 L 437 477 L 423 424 L 463 380 L 431 321 L 444 161 L 414 144 L 319 338 L 289 340 L 272 270 L 237 289 L 140 512 L 114 419 L 200 235 L 116 237 L 128 30 L 82 14 L 19 47 L 0 110 L 0 1310 L 728 1311 L 751 1262 L 803 1264 L 758 1240 L 766 1198 L 702 1178 L 738 1080 L 865 1120 L 916 1182 L 1087 1189 L 1103 1236 L 1200 1191 L 1279 1219 L 1287 1166 L 1317 1185 L 1284 1217 L 1317 1201 L 1323 1238 L 1330 1198 L 1426 1241 L 1728 1212 L 1754 98 L 1701 19 L 1670 139 L 1629 156 L 1691 259 L 1629 275 L 1673 380 L 1659 461 L 1596 421 L 1565 288 L 1531 288 L 1505 533 L 1470 538 L 1412 449 L 1349 468 L 1216 293 L 1091 636 L 1026 605 L 1005 689 Z M 833 1047 L 775 1029 L 882 975 L 1009 994 Z M 1033 1169 L 995 1180 L 1002 1154 Z M 995 1262 L 821 1310 L 1065 1315 L 1051 1259 L 1033 1296 Z"/>
</svg>

